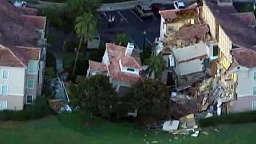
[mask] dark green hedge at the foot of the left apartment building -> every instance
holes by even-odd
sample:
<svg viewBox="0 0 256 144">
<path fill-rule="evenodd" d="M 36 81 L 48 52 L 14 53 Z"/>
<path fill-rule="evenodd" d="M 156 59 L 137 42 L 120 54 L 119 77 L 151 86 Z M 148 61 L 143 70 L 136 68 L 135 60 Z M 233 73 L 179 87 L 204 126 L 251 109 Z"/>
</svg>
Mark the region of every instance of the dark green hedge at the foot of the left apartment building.
<svg viewBox="0 0 256 144">
<path fill-rule="evenodd" d="M 25 121 L 29 119 L 38 119 L 51 113 L 52 111 L 44 98 L 38 97 L 34 105 L 26 107 L 23 111 L 1 111 L 0 121 Z"/>
</svg>

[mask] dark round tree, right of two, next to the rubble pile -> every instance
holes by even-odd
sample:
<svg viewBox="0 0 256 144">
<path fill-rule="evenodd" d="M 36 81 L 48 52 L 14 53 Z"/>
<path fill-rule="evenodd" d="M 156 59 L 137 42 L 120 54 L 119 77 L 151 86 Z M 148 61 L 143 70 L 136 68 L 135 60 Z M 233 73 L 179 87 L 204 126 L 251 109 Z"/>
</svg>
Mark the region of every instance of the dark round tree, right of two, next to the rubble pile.
<svg viewBox="0 0 256 144">
<path fill-rule="evenodd" d="M 129 110 L 138 115 L 162 117 L 169 112 L 170 98 L 166 85 L 158 80 L 140 80 L 124 97 Z"/>
</svg>

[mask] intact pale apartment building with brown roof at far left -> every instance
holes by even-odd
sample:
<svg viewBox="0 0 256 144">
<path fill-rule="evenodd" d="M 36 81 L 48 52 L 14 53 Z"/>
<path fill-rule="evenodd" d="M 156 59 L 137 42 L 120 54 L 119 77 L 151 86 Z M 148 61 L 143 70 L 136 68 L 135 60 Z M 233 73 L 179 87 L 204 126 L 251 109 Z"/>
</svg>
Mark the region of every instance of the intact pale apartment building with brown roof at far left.
<svg viewBox="0 0 256 144">
<path fill-rule="evenodd" d="M 0 110 L 23 110 L 41 96 L 46 17 L 0 1 Z"/>
</svg>

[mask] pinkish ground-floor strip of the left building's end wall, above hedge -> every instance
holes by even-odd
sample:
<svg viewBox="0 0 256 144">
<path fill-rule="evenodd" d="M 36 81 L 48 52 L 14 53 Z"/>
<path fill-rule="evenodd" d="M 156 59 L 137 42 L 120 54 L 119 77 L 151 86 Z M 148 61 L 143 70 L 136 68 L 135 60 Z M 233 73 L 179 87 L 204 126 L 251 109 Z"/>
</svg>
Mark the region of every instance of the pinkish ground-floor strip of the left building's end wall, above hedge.
<svg viewBox="0 0 256 144">
<path fill-rule="evenodd" d="M 7 101 L 7 110 L 23 110 L 23 96 L 0 95 L 0 101 Z"/>
</svg>

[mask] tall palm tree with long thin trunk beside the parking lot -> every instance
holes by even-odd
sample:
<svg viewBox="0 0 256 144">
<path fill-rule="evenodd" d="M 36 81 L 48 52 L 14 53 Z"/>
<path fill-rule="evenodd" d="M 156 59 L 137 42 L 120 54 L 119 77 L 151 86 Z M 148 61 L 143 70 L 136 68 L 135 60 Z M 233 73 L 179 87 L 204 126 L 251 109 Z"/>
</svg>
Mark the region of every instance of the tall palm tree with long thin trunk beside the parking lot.
<svg viewBox="0 0 256 144">
<path fill-rule="evenodd" d="M 75 64 L 73 69 L 73 75 L 75 75 L 76 63 L 79 56 L 79 51 L 84 38 L 86 41 L 85 51 L 87 49 L 87 42 L 92 39 L 96 33 L 97 21 L 94 19 L 94 16 L 90 13 L 84 13 L 82 16 L 76 18 L 75 31 L 78 37 L 80 37 L 80 42 L 78 46 L 78 51 L 76 53 Z"/>
</svg>

